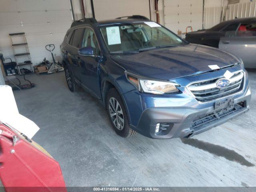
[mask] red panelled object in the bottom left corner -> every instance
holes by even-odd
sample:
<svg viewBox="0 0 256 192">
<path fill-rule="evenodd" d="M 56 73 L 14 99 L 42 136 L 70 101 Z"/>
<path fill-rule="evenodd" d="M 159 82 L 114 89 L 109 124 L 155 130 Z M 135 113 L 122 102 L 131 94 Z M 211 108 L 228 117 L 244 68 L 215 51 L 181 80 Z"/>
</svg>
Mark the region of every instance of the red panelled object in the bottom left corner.
<svg viewBox="0 0 256 192">
<path fill-rule="evenodd" d="M 13 136 L 18 140 L 15 145 Z M 0 123 L 0 181 L 6 192 L 66 192 L 60 165 L 42 147 Z"/>
</svg>

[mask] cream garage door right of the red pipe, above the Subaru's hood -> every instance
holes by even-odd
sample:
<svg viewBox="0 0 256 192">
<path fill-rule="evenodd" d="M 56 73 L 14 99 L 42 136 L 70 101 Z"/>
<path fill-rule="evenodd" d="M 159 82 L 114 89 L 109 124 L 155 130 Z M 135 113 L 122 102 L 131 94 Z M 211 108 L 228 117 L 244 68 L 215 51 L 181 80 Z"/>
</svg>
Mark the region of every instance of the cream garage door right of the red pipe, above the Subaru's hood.
<svg viewBox="0 0 256 192">
<path fill-rule="evenodd" d="M 173 32 L 202 29 L 202 20 L 203 0 L 164 0 L 164 25 Z"/>
</svg>

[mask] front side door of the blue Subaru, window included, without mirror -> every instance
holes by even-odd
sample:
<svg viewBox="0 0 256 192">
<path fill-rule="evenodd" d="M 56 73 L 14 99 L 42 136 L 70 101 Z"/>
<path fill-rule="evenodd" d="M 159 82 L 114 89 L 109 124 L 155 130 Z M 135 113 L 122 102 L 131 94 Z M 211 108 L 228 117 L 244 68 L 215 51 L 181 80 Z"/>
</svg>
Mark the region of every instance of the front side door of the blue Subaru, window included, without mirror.
<svg viewBox="0 0 256 192">
<path fill-rule="evenodd" d="M 93 55 L 79 56 L 82 86 L 89 89 L 96 97 L 100 98 L 101 92 L 98 66 L 102 61 L 102 56 L 98 40 L 92 28 L 87 27 L 85 29 L 82 47 L 92 47 L 93 49 Z"/>
</svg>

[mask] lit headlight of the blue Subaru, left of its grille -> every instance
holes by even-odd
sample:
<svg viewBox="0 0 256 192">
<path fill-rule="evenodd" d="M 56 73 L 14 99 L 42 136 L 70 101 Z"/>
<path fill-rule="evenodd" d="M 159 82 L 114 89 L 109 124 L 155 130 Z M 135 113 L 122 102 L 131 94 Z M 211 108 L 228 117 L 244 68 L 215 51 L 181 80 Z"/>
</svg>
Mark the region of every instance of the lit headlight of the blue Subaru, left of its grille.
<svg viewBox="0 0 256 192">
<path fill-rule="evenodd" d="M 126 75 L 127 80 L 132 83 L 140 92 L 152 93 L 152 94 L 165 94 L 165 93 L 175 93 L 179 92 L 176 83 L 155 81 L 155 80 L 145 80 Z"/>
</svg>

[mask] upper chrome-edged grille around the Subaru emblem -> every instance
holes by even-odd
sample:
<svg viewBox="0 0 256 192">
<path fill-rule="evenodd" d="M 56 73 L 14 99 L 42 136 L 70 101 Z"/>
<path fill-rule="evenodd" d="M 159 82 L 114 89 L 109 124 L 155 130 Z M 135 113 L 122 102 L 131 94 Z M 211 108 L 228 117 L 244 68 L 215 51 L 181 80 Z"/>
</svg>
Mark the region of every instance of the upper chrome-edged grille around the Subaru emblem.
<svg viewBox="0 0 256 192">
<path fill-rule="evenodd" d="M 218 88 L 218 80 L 224 77 L 215 78 L 211 80 L 206 80 L 202 82 L 196 82 L 188 86 L 188 89 L 194 94 L 195 98 L 200 102 L 208 102 L 211 100 L 216 100 L 230 94 L 234 94 L 242 90 L 244 73 L 236 72 L 233 74 L 232 78 L 229 79 L 230 84 L 224 88 Z"/>
</svg>

